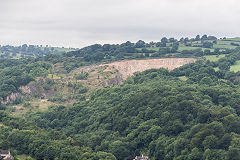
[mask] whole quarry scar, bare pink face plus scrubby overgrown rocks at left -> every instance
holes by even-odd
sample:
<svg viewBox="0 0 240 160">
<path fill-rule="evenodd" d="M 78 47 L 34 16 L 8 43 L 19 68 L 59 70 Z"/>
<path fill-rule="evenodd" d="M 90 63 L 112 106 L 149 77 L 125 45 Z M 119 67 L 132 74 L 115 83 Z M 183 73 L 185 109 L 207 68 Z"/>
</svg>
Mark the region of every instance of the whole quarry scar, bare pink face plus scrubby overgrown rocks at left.
<svg viewBox="0 0 240 160">
<path fill-rule="evenodd" d="M 194 61 L 193 58 L 124 60 L 79 67 L 65 74 L 57 73 L 59 66 L 55 66 L 51 74 L 45 78 L 37 77 L 35 82 L 20 86 L 20 92 L 8 95 L 2 103 L 13 104 L 8 107 L 13 114 L 46 110 L 48 106 L 67 105 L 76 102 L 80 97 L 88 98 L 95 89 L 123 84 L 124 80 L 135 72 L 159 68 L 172 70 Z M 16 103 L 20 99 L 20 104 Z"/>
</svg>

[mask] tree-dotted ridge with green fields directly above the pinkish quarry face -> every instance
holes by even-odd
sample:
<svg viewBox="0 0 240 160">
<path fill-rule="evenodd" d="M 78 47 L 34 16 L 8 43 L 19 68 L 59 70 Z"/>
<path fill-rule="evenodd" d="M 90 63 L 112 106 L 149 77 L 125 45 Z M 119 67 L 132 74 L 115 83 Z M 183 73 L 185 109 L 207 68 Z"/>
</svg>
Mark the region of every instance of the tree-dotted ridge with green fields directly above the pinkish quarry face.
<svg viewBox="0 0 240 160">
<path fill-rule="evenodd" d="M 196 43 L 195 43 L 196 42 Z M 139 40 L 136 43 L 127 41 L 122 44 L 94 44 L 84 47 L 77 51 L 67 52 L 63 57 L 57 60 L 51 55 L 55 62 L 63 62 L 64 68 L 70 72 L 74 68 L 89 65 L 98 62 L 111 62 L 123 59 L 143 59 L 149 57 L 201 57 L 204 55 L 229 54 L 231 49 L 213 48 L 213 44 L 217 43 L 214 36 L 199 35 L 196 38 L 175 38 L 163 37 L 159 42 L 144 42 Z M 196 49 L 179 50 L 179 46 L 192 46 Z M 213 51 L 211 49 L 214 49 Z"/>
</svg>

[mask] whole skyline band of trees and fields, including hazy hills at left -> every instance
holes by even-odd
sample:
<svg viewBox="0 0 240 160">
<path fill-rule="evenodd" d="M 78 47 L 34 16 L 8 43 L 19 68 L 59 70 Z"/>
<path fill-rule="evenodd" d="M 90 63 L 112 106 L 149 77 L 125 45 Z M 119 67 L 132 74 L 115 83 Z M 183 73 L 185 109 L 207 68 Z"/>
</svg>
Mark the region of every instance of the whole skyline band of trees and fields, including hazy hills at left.
<svg viewBox="0 0 240 160">
<path fill-rule="evenodd" d="M 231 49 L 218 49 L 213 47 L 217 42 L 214 36 L 197 35 L 195 38 L 161 38 L 158 42 L 144 42 L 139 40 L 136 43 L 127 41 L 122 44 L 94 44 L 80 50 L 65 52 L 59 48 L 42 47 L 34 45 L 22 45 L 19 47 L 2 46 L 0 52 L 7 53 L 10 58 L 21 53 L 23 56 L 15 58 L 38 57 L 38 59 L 51 61 L 52 63 L 63 63 L 67 72 L 80 66 L 99 62 L 111 62 L 123 59 L 143 59 L 149 57 L 201 57 L 204 55 L 229 54 Z M 179 50 L 179 47 L 193 47 L 189 50 Z M 196 49 L 194 49 L 196 47 Z M 213 50 L 214 49 L 214 50 Z M 74 49 L 73 49 L 74 50 Z M 63 54 L 61 55 L 60 52 Z M 1 56 L 1 55 L 0 55 Z M 9 58 L 3 56 L 2 58 Z M 44 56 L 44 57 L 43 57 Z"/>
</svg>

